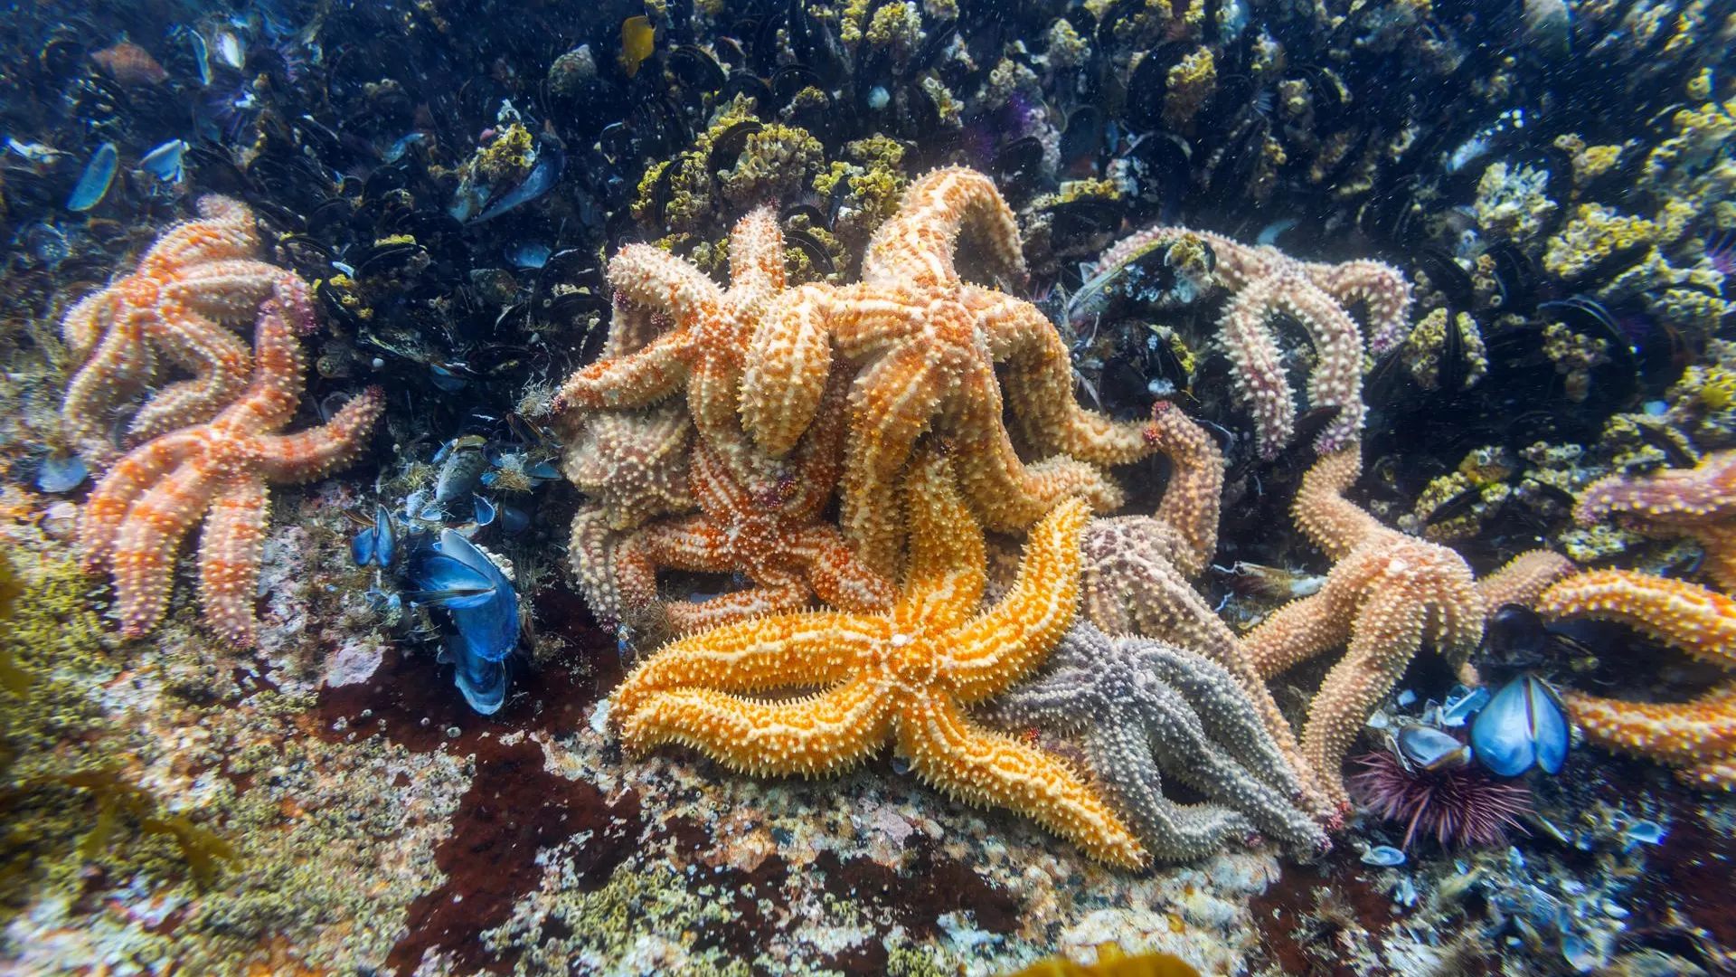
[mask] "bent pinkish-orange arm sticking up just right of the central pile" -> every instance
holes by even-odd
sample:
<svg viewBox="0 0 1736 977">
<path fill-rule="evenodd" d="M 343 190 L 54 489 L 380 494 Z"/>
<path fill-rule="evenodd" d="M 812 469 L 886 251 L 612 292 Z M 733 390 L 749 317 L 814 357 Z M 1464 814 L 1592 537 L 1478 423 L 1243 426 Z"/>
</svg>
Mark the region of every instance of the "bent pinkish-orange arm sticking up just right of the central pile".
<svg viewBox="0 0 1736 977">
<path fill-rule="evenodd" d="M 1167 400 L 1151 405 L 1151 424 L 1144 436 L 1170 459 L 1170 482 L 1163 487 L 1163 501 L 1153 518 L 1174 528 L 1184 544 L 1168 551 L 1175 568 L 1198 577 L 1217 551 L 1224 452 L 1205 428 Z"/>
</svg>

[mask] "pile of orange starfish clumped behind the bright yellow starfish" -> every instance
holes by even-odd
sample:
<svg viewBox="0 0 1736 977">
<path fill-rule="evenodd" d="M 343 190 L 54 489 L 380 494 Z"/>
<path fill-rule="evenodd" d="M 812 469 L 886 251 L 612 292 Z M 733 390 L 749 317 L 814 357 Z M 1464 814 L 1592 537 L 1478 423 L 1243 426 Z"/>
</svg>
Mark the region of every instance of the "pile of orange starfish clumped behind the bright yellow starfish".
<svg viewBox="0 0 1736 977">
<path fill-rule="evenodd" d="M 988 528 L 1024 530 L 1069 497 L 1120 504 L 1099 466 L 1149 454 L 1141 426 L 1075 403 L 1055 329 L 1029 302 L 965 283 L 960 233 L 1023 273 L 1012 210 L 963 169 L 910 188 L 856 285 L 786 289 L 769 209 L 731 233 L 727 289 L 654 247 L 621 249 L 609 348 L 556 400 L 580 428 L 568 473 L 590 502 L 571 555 L 601 617 L 679 635 L 816 598 L 891 607 L 904 546 L 896 492 L 922 436 L 946 445 Z M 1043 461 L 1026 464 L 1021 449 Z M 660 600 L 663 570 L 750 586 Z"/>
</svg>

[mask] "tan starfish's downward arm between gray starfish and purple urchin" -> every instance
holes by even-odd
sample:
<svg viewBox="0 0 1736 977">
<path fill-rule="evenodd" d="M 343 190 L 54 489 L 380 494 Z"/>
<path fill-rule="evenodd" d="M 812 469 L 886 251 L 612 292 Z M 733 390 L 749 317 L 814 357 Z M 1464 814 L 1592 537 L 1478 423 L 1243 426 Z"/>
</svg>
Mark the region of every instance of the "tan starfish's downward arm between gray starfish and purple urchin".
<svg viewBox="0 0 1736 977">
<path fill-rule="evenodd" d="M 1368 596 L 1351 628 L 1349 652 L 1314 694 L 1302 730 L 1302 756 L 1338 807 L 1351 803 L 1344 789 L 1344 754 L 1422 647 L 1427 617 L 1429 610 L 1403 591 Z"/>
</svg>

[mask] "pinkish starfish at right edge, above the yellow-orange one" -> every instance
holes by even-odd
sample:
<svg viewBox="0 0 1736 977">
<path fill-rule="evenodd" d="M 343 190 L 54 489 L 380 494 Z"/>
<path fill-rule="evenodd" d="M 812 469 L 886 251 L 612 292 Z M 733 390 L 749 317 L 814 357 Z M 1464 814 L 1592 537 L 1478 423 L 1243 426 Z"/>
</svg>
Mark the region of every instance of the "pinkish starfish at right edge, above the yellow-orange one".
<svg viewBox="0 0 1736 977">
<path fill-rule="evenodd" d="M 1698 539 L 1706 549 L 1706 575 L 1736 591 L 1736 449 L 1706 452 L 1694 468 L 1601 478 L 1573 509 L 1580 525 L 1611 513 L 1649 535 Z"/>
</svg>

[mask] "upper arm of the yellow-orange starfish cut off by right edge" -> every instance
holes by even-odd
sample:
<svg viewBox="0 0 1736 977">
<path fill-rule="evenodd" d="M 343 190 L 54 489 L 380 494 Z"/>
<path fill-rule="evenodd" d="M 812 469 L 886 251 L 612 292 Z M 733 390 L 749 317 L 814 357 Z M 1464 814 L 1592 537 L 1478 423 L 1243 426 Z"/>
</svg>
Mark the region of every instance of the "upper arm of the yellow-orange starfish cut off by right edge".
<svg viewBox="0 0 1736 977">
<path fill-rule="evenodd" d="M 1736 668 L 1736 600 L 1696 584 L 1590 570 L 1550 586 L 1536 610 L 1550 619 L 1620 621 L 1701 661 Z"/>
</svg>

